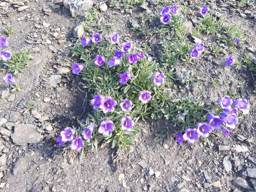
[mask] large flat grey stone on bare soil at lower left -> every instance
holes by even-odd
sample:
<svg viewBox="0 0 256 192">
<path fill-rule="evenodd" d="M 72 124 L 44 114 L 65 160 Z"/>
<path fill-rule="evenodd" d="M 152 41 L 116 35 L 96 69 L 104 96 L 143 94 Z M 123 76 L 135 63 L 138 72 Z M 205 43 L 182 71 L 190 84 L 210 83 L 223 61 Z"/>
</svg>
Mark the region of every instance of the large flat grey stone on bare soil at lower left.
<svg viewBox="0 0 256 192">
<path fill-rule="evenodd" d="M 39 142 L 41 135 L 36 131 L 35 125 L 18 124 L 14 127 L 14 133 L 11 135 L 11 138 L 17 145 L 26 145 Z"/>
</svg>

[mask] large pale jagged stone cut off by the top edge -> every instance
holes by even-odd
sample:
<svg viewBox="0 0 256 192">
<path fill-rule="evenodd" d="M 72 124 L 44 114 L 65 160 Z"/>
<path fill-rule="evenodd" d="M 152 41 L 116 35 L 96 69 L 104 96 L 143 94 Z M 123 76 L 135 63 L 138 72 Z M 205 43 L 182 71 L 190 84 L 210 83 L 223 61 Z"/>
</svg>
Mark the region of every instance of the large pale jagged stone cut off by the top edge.
<svg viewBox="0 0 256 192">
<path fill-rule="evenodd" d="M 63 5 L 70 11 L 72 17 L 83 16 L 87 9 L 92 8 L 92 0 L 63 0 Z"/>
</svg>

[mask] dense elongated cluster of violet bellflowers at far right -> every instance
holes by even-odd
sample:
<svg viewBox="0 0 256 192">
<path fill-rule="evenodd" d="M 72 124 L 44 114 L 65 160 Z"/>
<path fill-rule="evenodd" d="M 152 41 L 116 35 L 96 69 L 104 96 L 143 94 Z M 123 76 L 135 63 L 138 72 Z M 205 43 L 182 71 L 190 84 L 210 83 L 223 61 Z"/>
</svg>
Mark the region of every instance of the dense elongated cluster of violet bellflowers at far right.
<svg viewBox="0 0 256 192">
<path fill-rule="evenodd" d="M 189 144 L 193 144 L 198 141 L 202 136 L 207 138 L 209 134 L 214 131 L 222 131 L 225 137 L 231 134 L 231 130 L 235 129 L 238 123 L 238 111 L 242 111 L 243 114 L 248 114 L 250 110 L 250 103 L 245 99 L 232 100 L 228 96 L 220 98 L 218 100 L 219 107 L 223 110 L 222 113 L 217 116 L 212 113 L 207 115 L 207 122 L 198 123 L 196 128 L 189 127 L 184 133 L 177 133 L 175 141 L 182 143 L 187 141 Z"/>
</svg>

